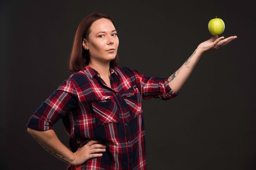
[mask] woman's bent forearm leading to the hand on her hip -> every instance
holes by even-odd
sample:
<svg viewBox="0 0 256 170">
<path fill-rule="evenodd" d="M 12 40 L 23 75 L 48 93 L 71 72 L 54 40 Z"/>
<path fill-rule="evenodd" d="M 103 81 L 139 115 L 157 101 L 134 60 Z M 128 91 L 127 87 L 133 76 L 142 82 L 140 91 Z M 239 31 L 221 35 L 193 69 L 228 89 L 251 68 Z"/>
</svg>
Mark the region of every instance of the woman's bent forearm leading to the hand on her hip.
<svg viewBox="0 0 256 170">
<path fill-rule="evenodd" d="M 65 163 L 70 163 L 74 160 L 74 153 L 61 143 L 53 130 L 36 131 L 28 128 L 27 131 L 45 150 L 56 158 Z"/>
</svg>

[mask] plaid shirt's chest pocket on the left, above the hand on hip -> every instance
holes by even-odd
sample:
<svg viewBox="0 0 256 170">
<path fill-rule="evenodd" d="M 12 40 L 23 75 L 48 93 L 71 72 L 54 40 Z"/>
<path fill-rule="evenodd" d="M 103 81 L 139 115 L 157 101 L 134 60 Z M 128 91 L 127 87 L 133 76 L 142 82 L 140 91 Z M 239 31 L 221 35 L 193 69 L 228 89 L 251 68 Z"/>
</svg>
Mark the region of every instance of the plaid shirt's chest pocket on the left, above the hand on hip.
<svg viewBox="0 0 256 170">
<path fill-rule="evenodd" d="M 119 122 L 117 113 L 117 104 L 113 96 L 99 96 L 92 100 L 92 109 L 94 111 L 97 126 L 109 123 Z"/>
</svg>

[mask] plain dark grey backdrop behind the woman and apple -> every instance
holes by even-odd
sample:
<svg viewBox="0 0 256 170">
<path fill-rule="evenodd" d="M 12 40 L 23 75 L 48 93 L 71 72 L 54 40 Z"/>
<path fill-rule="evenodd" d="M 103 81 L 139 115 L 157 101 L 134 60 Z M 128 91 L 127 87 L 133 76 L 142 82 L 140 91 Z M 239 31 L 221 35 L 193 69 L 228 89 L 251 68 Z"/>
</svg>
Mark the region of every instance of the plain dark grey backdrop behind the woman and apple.
<svg viewBox="0 0 256 170">
<path fill-rule="evenodd" d="M 222 35 L 238 39 L 204 54 L 176 98 L 143 101 L 148 169 L 256 169 L 256 12 L 246 0 L 1 0 L 1 169 L 65 169 L 26 125 L 72 74 L 74 33 L 92 12 L 114 20 L 119 65 L 160 77 L 211 38 L 209 20 L 224 20 Z M 54 130 L 67 145 L 61 121 Z"/>
</svg>

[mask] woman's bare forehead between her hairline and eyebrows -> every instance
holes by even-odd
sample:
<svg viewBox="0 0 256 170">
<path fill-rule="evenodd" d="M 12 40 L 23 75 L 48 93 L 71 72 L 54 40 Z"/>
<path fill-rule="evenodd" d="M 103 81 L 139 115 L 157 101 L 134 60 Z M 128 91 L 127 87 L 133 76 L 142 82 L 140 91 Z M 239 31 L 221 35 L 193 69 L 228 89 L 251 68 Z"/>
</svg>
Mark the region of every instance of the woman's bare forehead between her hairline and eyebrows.
<svg viewBox="0 0 256 170">
<path fill-rule="evenodd" d="M 110 20 L 108 20 L 106 18 L 101 18 L 92 23 L 90 30 L 91 30 L 91 33 L 99 33 L 101 31 L 108 32 L 108 31 L 115 30 L 115 26 L 113 25 L 113 23 Z"/>
</svg>

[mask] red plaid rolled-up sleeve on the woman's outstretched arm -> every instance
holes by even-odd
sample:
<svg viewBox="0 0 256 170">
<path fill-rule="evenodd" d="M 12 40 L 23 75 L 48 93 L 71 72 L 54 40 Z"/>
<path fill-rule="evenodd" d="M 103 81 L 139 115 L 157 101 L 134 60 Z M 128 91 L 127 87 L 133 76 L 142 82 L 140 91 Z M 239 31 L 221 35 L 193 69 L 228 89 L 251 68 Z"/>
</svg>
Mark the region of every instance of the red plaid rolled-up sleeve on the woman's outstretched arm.
<svg viewBox="0 0 256 170">
<path fill-rule="evenodd" d="M 135 76 L 137 76 L 141 82 L 142 87 L 142 98 L 159 98 L 161 100 L 169 100 L 177 96 L 170 86 L 168 85 L 168 78 L 161 78 L 156 76 L 147 76 L 135 71 Z"/>
</svg>

